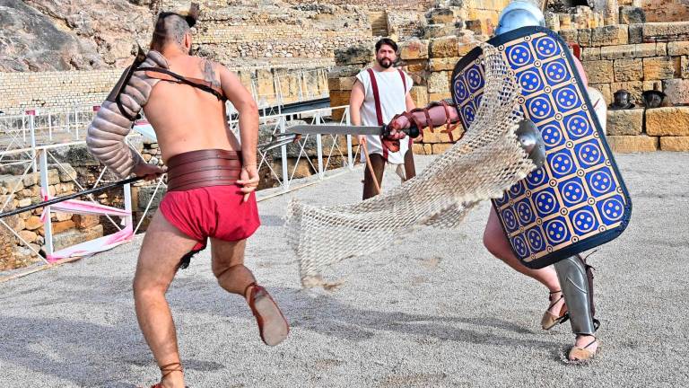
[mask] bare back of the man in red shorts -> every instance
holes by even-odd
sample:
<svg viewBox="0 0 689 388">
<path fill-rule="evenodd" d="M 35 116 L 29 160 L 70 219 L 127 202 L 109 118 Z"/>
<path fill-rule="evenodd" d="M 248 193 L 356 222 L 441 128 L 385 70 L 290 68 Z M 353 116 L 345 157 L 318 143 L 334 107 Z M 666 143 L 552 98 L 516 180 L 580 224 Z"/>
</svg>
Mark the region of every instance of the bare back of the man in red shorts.
<svg viewBox="0 0 689 388">
<path fill-rule="evenodd" d="M 220 75 L 211 61 L 199 57 L 168 58 L 170 70 L 185 77 L 205 79 L 220 87 Z M 240 144 L 227 125 L 224 101 L 186 84 L 161 81 L 144 106 L 155 129 L 162 159 L 199 149 L 239 151 Z"/>
</svg>

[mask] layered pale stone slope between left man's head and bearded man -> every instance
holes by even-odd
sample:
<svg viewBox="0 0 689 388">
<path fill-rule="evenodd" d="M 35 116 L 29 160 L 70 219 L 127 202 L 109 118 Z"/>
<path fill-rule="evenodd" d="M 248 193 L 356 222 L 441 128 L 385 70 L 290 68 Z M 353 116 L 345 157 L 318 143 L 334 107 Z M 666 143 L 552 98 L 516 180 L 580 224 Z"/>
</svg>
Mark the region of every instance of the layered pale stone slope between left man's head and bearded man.
<svg viewBox="0 0 689 388">
<path fill-rule="evenodd" d="M 246 0 L 199 3 L 201 20 L 196 27 L 195 48 L 231 66 L 331 58 L 335 48 L 373 40 L 367 7 L 279 0 L 258 6 Z M 165 0 L 157 8 L 179 10 L 188 4 Z"/>
</svg>

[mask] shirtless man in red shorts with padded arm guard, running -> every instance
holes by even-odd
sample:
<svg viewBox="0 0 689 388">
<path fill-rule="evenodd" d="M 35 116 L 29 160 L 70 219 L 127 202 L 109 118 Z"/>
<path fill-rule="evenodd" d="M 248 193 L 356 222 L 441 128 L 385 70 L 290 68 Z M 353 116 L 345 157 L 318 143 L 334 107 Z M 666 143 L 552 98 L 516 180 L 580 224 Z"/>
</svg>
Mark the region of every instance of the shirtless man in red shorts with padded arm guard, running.
<svg viewBox="0 0 689 388">
<path fill-rule="evenodd" d="M 184 387 L 177 331 L 165 293 L 180 268 L 210 240 L 212 269 L 222 288 L 243 296 L 267 345 L 285 340 L 289 323 L 244 266 L 246 241 L 256 232 L 258 110 L 251 94 L 226 67 L 191 56 L 188 13 L 160 13 L 151 49 L 103 102 L 87 145 L 120 178 L 168 174 L 168 191 L 153 215 L 134 278 L 136 317 L 161 369 L 153 387 Z M 227 125 L 225 101 L 239 111 L 240 140 Z M 155 129 L 165 167 L 143 161 L 125 137 L 143 110 Z"/>
</svg>

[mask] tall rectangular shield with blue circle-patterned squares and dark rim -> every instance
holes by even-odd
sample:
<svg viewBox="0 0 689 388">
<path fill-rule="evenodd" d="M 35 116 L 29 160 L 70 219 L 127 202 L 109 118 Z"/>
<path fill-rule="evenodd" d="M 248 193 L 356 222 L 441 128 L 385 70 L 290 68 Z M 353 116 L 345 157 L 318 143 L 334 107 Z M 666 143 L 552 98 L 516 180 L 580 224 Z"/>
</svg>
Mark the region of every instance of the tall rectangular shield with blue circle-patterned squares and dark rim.
<svg viewBox="0 0 689 388">
<path fill-rule="evenodd" d="M 488 43 L 501 51 L 521 87 L 521 111 L 545 142 L 544 166 L 493 200 L 512 250 L 539 269 L 615 239 L 632 201 L 566 43 L 541 27 Z M 452 74 L 450 92 L 467 130 L 484 92 L 481 58 L 475 48 Z"/>
</svg>

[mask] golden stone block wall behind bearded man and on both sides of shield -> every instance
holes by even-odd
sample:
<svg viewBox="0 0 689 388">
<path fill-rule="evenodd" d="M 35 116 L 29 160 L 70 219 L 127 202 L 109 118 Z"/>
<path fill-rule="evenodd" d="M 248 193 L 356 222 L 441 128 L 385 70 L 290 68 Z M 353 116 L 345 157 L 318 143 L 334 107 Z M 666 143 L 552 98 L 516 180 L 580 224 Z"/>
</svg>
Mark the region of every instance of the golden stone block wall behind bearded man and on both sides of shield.
<svg viewBox="0 0 689 388">
<path fill-rule="evenodd" d="M 606 103 L 626 89 L 637 107 L 641 92 L 658 84 L 670 103 L 689 105 L 689 22 L 618 24 L 563 30 L 563 38 L 579 43 L 589 84 Z M 474 47 L 471 34 L 400 43 L 402 68 L 414 79 L 411 95 L 417 106 L 450 97 L 449 80 L 458 60 Z M 342 57 L 329 75 L 333 106 L 347 105 L 353 76 L 371 64 L 371 56 Z M 336 112 L 337 114 L 337 112 Z M 341 112 L 340 112 L 341 114 Z M 689 151 L 689 107 L 610 111 L 607 135 L 615 152 Z M 459 129 L 453 133 L 458 138 Z M 450 145 L 447 134 L 424 131 L 414 145 L 419 154 L 440 154 Z"/>
</svg>

